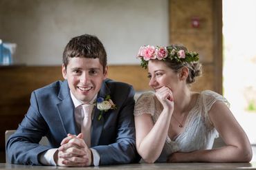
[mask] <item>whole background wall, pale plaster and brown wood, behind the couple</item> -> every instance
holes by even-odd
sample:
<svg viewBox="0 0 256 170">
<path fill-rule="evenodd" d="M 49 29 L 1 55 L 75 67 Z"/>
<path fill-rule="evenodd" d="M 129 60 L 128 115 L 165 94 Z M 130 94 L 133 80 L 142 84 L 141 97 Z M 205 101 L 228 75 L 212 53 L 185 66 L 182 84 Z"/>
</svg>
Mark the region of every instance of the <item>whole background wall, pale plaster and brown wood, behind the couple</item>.
<svg viewBox="0 0 256 170">
<path fill-rule="evenodd" d="M 18 44 L 17 60 L 0 66 L 0 162 L 4 132 L 17 129 L 34 89 L 62 79 L 64 46 L 73 36 L 97 35 L 109 54 L 109 78 L 150 89 L 136 60 L 145 44 L 183 43 L 199 52 L 201 76 L 192 89 L 222 93 L 221 0 L 0 0 L 0 39 Z M 196 18 L 199 27 L 193 27 Z M 5 90 L 8 89 L 8 90 Z"/>
</svg>

